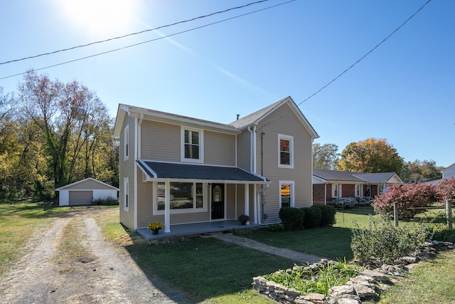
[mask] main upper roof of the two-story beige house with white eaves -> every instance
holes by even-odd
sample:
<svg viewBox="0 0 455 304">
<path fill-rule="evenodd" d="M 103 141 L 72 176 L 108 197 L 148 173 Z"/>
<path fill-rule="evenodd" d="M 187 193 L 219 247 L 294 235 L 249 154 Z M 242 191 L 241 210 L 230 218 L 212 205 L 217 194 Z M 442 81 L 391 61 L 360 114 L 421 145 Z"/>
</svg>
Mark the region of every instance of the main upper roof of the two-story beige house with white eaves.
<svg viewBox="0 0 455 304">
<path fill-rule="evenodd" d="M 306 127 L 306 130 L 310 133 L 312 138 L 318 138 L 319 135 L 316 133 L 314 128 L 310 125 L 308 120 L 304 117 L 304 115 L 299 110 L 299 107 L 294 103 L 291 97 L 284 98 L 282 100 L 277 101 L 276 103 L 272 103 L 272 105 L 268 105 L 261 110 L 258 110 L 250 115 L 240 118 L 235 122 L 231 122 L 230 124 L 223 124 L 220 122 L 212 122 L 209 120 L 200 120 L 198 118 L 187 117 L 183 115 L 176 115 L 168 112 L 161 112 L 156 110 L 150 110 L 146 108 L 136 107 L 134 105 L 124 105 L 119 104 L 119 108 L 117 110 L 117 117 L 115 119 L 114 125 L 114 138 L 119 138 L 120 133 L 122 132 L 121 128 L 123 125 L 124 120 L 127 116 L 150 119 L 160 122 L 168 122 L 173 123 L 176 125 L 186 125 L 188 127 L 203 127 L 206 130 L 214 130 L 218 132 L 228 132 L 230 134 L 238 134 L 242 130 L 252 125 L 257 125 L 261 120 L 267 117 L 269 114 L 277 110 L 277 108 L 281 107 L 284 104 L 289 104 L 289 108 L 294 114 L 299 117 L 299 120 L 302 122 L 302 125 Z"/>
</svg>

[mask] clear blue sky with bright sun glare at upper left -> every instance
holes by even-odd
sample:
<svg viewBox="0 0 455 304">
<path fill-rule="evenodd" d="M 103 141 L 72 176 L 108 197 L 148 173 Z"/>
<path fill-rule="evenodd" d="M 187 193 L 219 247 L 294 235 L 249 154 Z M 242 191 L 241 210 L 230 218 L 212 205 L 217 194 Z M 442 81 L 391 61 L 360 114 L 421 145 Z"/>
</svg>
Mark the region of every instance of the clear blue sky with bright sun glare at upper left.
<svg viewBox="0 0 455 304">
<path fill-rule="evenodd" d="M 0 87 L 33 68 L 86 85 L 112 117 L 124 103 L 221 123 L 291 96 L 314 142 L 385 139 L 405 162 L 449 167 L 455 1 L 427 1 L 3 1 Z"/>
</svg>

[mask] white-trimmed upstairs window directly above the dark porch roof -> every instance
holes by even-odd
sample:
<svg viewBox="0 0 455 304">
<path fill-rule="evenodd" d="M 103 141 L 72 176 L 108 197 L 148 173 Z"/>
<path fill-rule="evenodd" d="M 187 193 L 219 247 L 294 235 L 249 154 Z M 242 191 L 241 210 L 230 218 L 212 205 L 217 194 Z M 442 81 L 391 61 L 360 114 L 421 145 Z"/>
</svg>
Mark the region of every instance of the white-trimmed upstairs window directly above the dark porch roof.
<svg viewBox="0 0 455 304">
<path fill-rule="evenodd" d="M 203 162 L 203 131 L 182 127 L 181 161 Z"/>
</svg>

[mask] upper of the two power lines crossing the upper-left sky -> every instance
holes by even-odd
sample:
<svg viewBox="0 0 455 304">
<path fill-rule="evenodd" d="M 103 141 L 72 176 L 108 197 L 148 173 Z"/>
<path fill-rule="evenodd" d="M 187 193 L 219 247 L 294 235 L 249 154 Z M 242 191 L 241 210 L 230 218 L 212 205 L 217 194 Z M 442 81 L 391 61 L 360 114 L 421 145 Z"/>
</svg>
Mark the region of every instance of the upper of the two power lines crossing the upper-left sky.
<svg viewBox="0 0 455 304">
<path fill-rule="evenodd" d="M 184 20 L 184 21 L 178 21 L 176 23 L 167 24 L 165 26 L 159 26 L 157 28 L 149 28 L 149 29 L 146 29 L 144 31 L 138 31 L 136 33 L 129 33 L 129 34 L 124 35 L 124 36 L 118 36 L 118 37 L 109 38 L 109 39 L 105 39 L 105 40 L 101 40 L 101 41 L 95 41 L 95 42 L 92 42 L 92 43 L 82 44 L 80 46 L 73 46 L 71 48 L 63 48 L 63 49 L 58 50 L 58 51 L 52 51 L 52 52 L 49 52 L 49 53 L 41 53 L 41 54 L 38 54 L 38 55 L 35 55 L 35 56 L 29 56 L 29 57 L 24 57 L 24 58 L 20 58 L 20 59 L 14 59 L 14 60 L 11 60 L 11 61 L 5 61 L 5 62 L 0 63 L 0 65 L 4 65 L 6 63 L 13 63 L 13 62 L 17 62 L 17 61 L 25 61 L 27 59 L 38 58 L 38 57 L 47 56 L 47 55 L 52 55 L 52 54 L 60 53 L 60 52 L 64 52 L 64 51 L 70 51 L 70 50 L 74 50 L 75 48 L 84 48 L 85 46 L 92 46 L 92 45 L 97 44 L 97 43 L 105 43 L 105 42 L 117 40 L 117 39 L 120 39 L 120 38 L 126 38 L 126 37 L 129 37 L 129 36 L 139 35 L 140 33 L 146 33 L 146 32 L 149 32 L 149 31 L 156 31 L 156 30 L 159 30 L 161 28 L 166 28 L 166 27 L 170 27 L 170 26 L 176 26 L 177 24 L 187 23 L 187 22 L 190 22 L 190 21 L 195 21 L 197 19 L 203 19 L 203 18 L 207 18 L 207 17 L 214 16 L 214 15 L 217 15 L 217 14 L 223 14 L 223 13 L 226 13 L 228 11 L 233 11 L 235 9 L 242 9 L 244 7 L 252 6 L 254 4 L 259 4 L 259 3 L 265 2 L 265 1 L 269 1 L 269 0 L 260 0 L 260 1 L 252 2 L 250 4 L 245 4 L 245 5 L 242 5 L 242 6 L 232 7 L 231 9 L 225 9 L 224 11 L 216 11 L 215 13 L 212 13 L 212 14 L 198 16 L 198 17 L 195 17 L 195 18 L 192 18 L 192 19 L 188 19 L 188 20 Z"/>
</svg>

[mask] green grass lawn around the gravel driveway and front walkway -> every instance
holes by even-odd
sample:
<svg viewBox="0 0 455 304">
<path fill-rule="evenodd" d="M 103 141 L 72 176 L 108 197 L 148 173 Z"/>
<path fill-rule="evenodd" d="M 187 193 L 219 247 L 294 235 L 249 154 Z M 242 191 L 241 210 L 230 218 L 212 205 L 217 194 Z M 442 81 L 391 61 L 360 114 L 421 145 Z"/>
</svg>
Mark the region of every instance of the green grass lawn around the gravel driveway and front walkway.
<svg viewBox="0 0 455 304">
<path fill-rule="evenodd" d="M 106 239 L 119 250 L 126 250 L 164 293 L 181 292 L 188 303 L 276 303 L 252 289 L 252 277 L 294 265 L 286 258 L 209 237 L 149 245 L 119 224 L 118 206 L 103 208 L 111 211 L 94 216 Z M 75 207 L 55 208 L 43 203 L 0 204 L 0 271 L 6 271 L 5 263 L 13 265 L 28 239 L 39 235 L 50 221 L 75 210 Z M 354 212 L 338 212 L 336 216 L 337 224 L 332 228 L 275 233 L 261 229 L 245 237 L 317 256 L 350 259 L 349 227 L 354 221 L 368 224 L 368 216 Z M 382 303 L 455 303 L 455 277 L 451 271 L 454 266 L 453 251 L 419 263 L 405 284 L 387 291 Z"/>
</svg>

